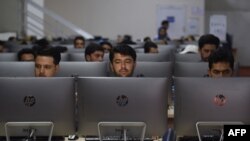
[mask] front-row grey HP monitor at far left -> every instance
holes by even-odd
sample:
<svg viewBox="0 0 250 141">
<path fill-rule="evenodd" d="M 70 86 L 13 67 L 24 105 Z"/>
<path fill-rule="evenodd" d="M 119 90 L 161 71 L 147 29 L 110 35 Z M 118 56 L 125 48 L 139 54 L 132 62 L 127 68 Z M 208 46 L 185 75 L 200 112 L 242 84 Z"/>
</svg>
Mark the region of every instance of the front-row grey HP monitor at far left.
<svg viewBox="0 0 250 141">
<path fill-rule="evenodd" d="M 75 133 L 74 78 L 2 77 L 0 86 L 0 136 L 7 122 L 53 122 L 53 136 Z"/>
</svg>

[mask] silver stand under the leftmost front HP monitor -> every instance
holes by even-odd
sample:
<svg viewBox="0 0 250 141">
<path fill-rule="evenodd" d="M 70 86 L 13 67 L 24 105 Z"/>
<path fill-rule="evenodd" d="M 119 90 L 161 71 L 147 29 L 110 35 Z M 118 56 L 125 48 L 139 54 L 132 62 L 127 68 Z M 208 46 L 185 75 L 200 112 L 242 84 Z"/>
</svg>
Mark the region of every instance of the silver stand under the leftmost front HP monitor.
<svg viewBox="0 0 250 141">
<path fill-rule="evenodd" d="M 25 141 L 36 141 L 38 135 L 48 136 L 48 141 L 51 141 L 53 128 L 53 122 L 7 122 L 5 124 L 6 140 L 10 141 L 12 131 L 14 136 L 23 137 Z"/>
</svg>

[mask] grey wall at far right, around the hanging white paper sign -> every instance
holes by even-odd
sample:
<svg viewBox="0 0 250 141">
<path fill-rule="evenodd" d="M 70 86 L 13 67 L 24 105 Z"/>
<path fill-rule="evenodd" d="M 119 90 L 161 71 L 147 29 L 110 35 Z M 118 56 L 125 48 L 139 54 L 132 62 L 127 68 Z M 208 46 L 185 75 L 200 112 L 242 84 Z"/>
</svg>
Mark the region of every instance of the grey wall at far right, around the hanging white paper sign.
<svg viewBox="0 0 250 141">
<path fill-rule="evenodd" d="M 237 48 L 241 66 L 250 66 L 250 1 L 249 0 L 208 0 L 206 1 L 205 30 L 208 32 L 209 16 L 224 14 L 227 16 L 228 33 L 233 36 L 233 47 Z"/>
</svg>

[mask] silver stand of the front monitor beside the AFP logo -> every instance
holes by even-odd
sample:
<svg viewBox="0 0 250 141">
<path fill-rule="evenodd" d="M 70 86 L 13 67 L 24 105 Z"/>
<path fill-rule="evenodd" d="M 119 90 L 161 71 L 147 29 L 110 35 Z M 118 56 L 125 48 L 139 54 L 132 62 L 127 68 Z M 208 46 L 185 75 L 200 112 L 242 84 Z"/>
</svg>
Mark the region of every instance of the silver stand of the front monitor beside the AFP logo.
<svg viewBox="0 0 250 141">
<path fill-rule="evenodd" d="M 203 127 L 209 128 L 211 126 L 213 126 L 213 127 L 216 126 L 216 127 L 218 127 L 217 130 L 219 130 L 219 132 L 220 132 L 220 140 L 219 141 L 223 141 L 223 137 L 224 137 L 223 126 L 224 125 L 242 125 L 242 124 L 243 124 L 243 122 L 240 122 L 240 121 L 199 121 L 199 122 L 196 122 L 196 131 L 197 131 L 199 141 L 202 141 L 200 127 L 203 126 Z"/>
</svg>

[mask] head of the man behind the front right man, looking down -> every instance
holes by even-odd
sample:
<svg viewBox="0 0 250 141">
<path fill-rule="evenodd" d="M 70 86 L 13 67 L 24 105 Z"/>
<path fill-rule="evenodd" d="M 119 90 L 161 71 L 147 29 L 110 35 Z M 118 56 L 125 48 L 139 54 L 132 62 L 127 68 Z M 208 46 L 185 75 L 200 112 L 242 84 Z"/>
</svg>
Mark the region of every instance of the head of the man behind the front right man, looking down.
<svg viewBox="0 0 250 141">
<path fill-rule="evenodd" d="M 220 39 L 212 34 L 202 35 L 198 41 L 201 61 L 207 62 L 209 56 L 219 47 Z"/>
</svg>

